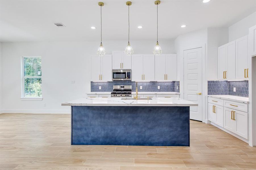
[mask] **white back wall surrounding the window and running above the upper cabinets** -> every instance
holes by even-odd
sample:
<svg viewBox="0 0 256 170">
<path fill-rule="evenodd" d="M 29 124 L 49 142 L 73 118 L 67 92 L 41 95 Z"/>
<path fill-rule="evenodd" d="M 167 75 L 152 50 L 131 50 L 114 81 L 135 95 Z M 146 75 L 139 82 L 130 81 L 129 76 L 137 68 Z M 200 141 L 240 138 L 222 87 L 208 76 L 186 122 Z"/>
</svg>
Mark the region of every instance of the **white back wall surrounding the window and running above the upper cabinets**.
<svg viewBox="0 0 256 170">
<path fill-rule="evenodd" d="M 152 54 L 155 43 L 131 41 L 135 54 Z M 159 44 L 163 53 L 174 53 L 174 40 Z M 103 41 L 103 45 L 112 54 L 112 50 L 124 50 L 127 41 Z M 70 113 L 70 107 L 61 103 L 90 92 L 90 56 L 96 55 L 98 46 L 98 41 L 2 43 L 3 112 Z M 42 57 L 42 101 L 20 100 L 21 56 Z"/>
</svg>

